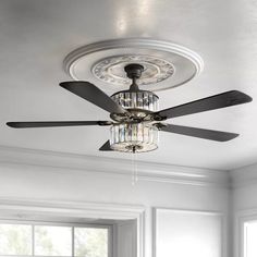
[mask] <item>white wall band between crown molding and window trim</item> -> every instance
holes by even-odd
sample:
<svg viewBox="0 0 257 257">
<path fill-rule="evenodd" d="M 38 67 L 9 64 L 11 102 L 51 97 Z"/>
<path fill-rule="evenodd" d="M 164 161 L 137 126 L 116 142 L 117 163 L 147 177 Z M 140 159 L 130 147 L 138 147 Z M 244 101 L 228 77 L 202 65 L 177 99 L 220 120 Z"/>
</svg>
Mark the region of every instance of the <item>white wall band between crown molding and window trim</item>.
<svg viewBox="0 0 257 257">
<path fill-rule="evenodd" d="M 146 257 L 150 257 L 152 252 L 152 207 L 220 211 L 227 215 L 229 206 L 229 191 L 217 184 L 199 186 L 183 181 L 167 183 L 139 180 L 132 186 L 130 174 L 109 175 L 105 172 L 4 162 L 0 163 L 0 198 L 143 205 L 146 208 Z"/>
</svg>

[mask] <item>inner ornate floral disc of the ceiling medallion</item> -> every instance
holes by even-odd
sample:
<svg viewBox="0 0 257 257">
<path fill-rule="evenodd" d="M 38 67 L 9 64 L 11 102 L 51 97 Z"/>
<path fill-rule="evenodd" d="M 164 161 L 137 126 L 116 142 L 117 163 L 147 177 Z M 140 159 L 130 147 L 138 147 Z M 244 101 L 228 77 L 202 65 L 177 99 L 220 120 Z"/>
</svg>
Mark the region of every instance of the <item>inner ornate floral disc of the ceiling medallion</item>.
<svg viewBox="0 0 257 257">
<path fill-rule="evenodd" d="M 163 59 L 149 56 L 118 56 L 108 57 L 93 68 L 93 74 L 99 79 L 123 86 L 130 85 L 131 78 L 126 76 L 124 68 L 130 63 L 139 63 L 144 72 L 137 81 L 138 85 L 156 84 L 167 79 L 174 73 L 171 63 Z"/>
</svg>

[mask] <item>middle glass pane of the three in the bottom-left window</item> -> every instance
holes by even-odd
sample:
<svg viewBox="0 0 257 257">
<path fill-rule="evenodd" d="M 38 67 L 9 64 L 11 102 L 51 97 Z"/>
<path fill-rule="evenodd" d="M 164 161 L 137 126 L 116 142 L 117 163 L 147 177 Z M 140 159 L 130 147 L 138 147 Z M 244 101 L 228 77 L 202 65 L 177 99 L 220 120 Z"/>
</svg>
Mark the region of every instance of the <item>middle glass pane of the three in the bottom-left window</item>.
<svg viewBox="0 0 257 257">
<path fill-rule="evenodd" d="M 35 225 L 35 255 L 71 256 L 72 228 Z"/>
</svg>

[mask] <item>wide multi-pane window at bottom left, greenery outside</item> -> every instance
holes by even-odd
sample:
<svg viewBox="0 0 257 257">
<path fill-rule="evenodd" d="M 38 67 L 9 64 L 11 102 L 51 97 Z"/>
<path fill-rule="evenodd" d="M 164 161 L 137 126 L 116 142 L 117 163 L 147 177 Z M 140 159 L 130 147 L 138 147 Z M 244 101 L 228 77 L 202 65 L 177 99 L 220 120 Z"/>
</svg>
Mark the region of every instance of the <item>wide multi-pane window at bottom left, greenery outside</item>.
<svg viewBox="0 0 257 257">
<path fill-rule="evenodd" d="M 108 257 L 110 225 L 0 223 L 0 256 Z"/>
</svg>

